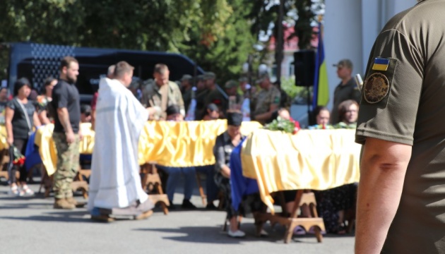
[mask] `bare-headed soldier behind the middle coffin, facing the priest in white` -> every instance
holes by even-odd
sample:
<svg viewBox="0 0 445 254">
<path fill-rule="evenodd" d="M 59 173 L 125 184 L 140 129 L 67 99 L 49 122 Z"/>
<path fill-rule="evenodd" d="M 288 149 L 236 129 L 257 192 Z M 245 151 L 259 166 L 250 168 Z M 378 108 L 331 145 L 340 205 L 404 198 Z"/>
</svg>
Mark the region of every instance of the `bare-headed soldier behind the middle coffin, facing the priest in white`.
<svg viewBox="0 0 445 254">
<path fill-rule="evenodd" d="M 143 90 L 141 103 L 145 107 L 154 107 L 156 114 L 150 116 L 150 119 L 165 120 L 167 107 L 178 105 L 181 109 L 182 116 L 185 116 L 184 101 L 182 100 L 181 90 L 179 86 L 169 80 L 170 71 L 167 66 L 158 63 L 155 66 L 153 83 L 148 83 Z"/>
</svg>

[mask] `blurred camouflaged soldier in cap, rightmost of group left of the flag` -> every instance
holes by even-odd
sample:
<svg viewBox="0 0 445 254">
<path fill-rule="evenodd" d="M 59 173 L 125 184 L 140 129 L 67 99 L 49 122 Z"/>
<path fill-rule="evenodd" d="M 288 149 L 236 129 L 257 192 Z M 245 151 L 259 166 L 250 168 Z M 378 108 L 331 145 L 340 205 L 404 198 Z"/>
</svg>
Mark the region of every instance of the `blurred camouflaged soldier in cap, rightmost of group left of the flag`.
<svg viewBox="0 0 445 254">
<path fill-rule="evenodd" d="M 261 87 L 256 95 L 253 118 L 261 124 L 265 124 L 271 119 L 273 112 L 280 105 L 281 93 L 277 87 L 271 83 L 268 73 L 261 74 L 256 83 Z"/>
</svg>

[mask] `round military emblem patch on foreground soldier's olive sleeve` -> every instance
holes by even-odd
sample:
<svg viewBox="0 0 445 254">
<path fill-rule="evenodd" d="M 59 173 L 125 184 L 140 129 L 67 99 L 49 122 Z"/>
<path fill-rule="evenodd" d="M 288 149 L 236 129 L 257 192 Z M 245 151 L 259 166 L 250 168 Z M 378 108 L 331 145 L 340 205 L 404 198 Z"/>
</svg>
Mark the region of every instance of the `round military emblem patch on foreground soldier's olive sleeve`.
<svg viewBox="0 0 445 254">
<path fill-rule="evenodd" d="M 373 73 L 363 85 L 363 97 L 369 103 L 380 102 L 389 91 L 389 81 L 386 75 Z"/>
</svg>

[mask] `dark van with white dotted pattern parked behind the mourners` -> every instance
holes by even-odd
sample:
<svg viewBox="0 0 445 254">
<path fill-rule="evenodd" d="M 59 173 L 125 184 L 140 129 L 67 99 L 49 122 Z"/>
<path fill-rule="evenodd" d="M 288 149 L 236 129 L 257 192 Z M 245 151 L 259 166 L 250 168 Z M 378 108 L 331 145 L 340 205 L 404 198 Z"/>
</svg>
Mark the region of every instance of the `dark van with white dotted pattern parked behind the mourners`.
<svg viewBox="0 0 445 254">
<path fill-rule="evenodd" d="M 127 61 L 134 66 L 135 80 L 153 78 L 156 63 L 165 63 L 170 70 L 170 80 L 179 80 L 182 75 L 200 75 L 203 69 L 182 54 L 166 52 L 146 52 L 128 49 L 99 49 L 73 47 L 33 42 L 8 43 L 8 88 L 13 92 L 14 82 L 21 77 L 28 78 L 37 91 L 45 78 L 59 77 L 59 63 L 64 56 L 73 56 L 79 62 L 79 75 L 76 87 L 81 102 L 88 103 L 99 88 L 99 80 L 107 75 L 108 66 L 119 61 Z"/>
</svg>

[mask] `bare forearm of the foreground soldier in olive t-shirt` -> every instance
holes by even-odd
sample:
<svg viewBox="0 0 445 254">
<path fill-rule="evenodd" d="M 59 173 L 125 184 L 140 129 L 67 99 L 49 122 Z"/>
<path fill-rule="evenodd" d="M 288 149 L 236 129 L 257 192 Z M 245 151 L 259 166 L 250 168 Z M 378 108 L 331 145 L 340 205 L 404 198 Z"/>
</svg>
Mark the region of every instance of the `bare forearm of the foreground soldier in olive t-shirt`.
<svg viewBox="0 0 445 254">
<path fill-rule="evenodd" d="M 360 164 L 355 253 L 381 252 L 401 200 L 410 149 L 405 146 L 396 152 L 392 147 L 367 150 L 365 145 Z"/>
</svg>

